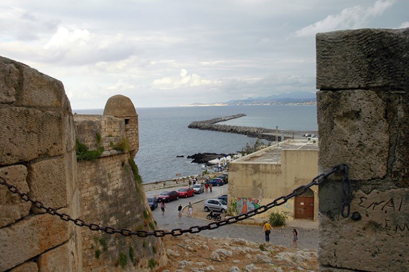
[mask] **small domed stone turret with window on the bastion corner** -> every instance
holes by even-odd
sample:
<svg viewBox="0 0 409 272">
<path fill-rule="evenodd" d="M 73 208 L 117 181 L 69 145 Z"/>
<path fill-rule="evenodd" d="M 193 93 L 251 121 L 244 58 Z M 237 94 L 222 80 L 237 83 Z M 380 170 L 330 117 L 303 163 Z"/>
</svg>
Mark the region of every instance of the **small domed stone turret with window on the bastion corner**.
<svg viewBox="0 0 409 272">
<path fill-rule="evenodd" d="M 138 114 L 131 99 L 114 95 L 106 101 L 104 115 L 122 118 L 125 122 L 126 139 L 129 142 L 129 155 L 135 157 L 139 150 Z"/>
</svg>

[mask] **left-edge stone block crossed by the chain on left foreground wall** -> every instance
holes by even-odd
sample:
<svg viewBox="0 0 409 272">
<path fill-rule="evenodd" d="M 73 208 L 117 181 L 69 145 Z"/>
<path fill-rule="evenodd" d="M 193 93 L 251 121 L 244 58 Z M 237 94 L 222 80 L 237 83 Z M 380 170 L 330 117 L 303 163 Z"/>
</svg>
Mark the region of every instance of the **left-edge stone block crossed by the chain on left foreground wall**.
<svg viewBox="0 0 409 272">
<path fill-rule="evenodd" d="M 28 193 L 26 182 L 27 168 L 24 165 L 13 165 L 0 168 L 0 177 L 17 187 L 21 193 Z M 18 194 L 11 193 L 6 186 L 0 185 L 0 227 L 14 223 L 30 212 L 31 203 L 24 201 Z"/>
</svg>

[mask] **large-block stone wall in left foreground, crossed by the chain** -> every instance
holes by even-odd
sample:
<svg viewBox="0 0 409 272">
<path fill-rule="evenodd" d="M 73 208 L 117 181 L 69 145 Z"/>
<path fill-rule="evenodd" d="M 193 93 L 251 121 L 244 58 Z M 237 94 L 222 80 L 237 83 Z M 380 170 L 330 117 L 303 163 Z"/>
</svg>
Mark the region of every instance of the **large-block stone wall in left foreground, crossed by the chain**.
<svg viewBox="0 0 409 272">
<path fill-rule="evenodd" d="M 0 57 L 0 177 L 79 216 L 74 118 L 59 80 Z M 79 227 L 0 186 L 0 271 L 81 271 Z"/>
</svg>

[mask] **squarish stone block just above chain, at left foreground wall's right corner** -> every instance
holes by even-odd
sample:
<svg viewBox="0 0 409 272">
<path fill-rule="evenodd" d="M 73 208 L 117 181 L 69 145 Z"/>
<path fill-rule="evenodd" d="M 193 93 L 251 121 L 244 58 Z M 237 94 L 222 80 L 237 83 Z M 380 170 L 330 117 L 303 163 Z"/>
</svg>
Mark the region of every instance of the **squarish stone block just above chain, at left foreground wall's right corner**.
<svg viewBox="0 0 409 272">
<path fill-rule="evenodd" d="M 66 157 L 56 157 L 29 164 L 28 183 L 30 197 L 53 208 L 67 206 L 67 193 L 72 194 L 73 161 Z M 67 189 L 70 189 L 67 192 Z M 44 213 L 44 210 L 33 207 L 33 212 Z"/>
</svg>

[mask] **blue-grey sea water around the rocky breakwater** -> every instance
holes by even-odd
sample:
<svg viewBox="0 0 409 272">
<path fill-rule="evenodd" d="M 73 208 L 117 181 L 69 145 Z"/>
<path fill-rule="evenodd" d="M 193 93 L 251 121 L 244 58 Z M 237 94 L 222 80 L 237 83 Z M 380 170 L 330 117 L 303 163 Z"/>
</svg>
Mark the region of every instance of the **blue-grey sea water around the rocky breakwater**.
<svg viewBox="0 0 409 272">
<path fill-rule="evenodd" d="M 102 114 L 102 109 L 73 110 L 78 114 Z M 224 124 L 278 130 L 317 130 L 316 106 L 220 106 L 137 108 L 139 152 L 135 157 L 143 182 L 152 182 L 201 173 L 201 164 L 186 157 L 196 153 L 237 153 L 254 138 L 244 135 L 189 129 L 192 121 L 244 113 L 246 116 Z M 183 157 L 177 157 L 183 156 Z"/>
</svg>

